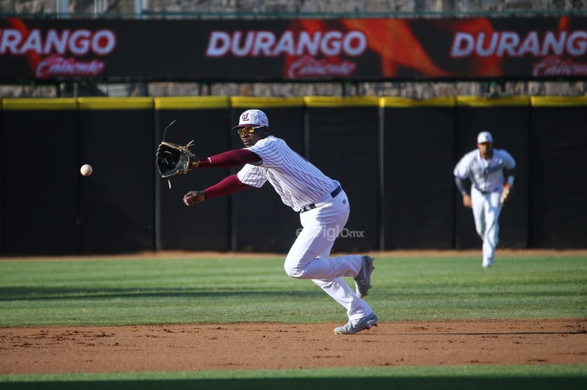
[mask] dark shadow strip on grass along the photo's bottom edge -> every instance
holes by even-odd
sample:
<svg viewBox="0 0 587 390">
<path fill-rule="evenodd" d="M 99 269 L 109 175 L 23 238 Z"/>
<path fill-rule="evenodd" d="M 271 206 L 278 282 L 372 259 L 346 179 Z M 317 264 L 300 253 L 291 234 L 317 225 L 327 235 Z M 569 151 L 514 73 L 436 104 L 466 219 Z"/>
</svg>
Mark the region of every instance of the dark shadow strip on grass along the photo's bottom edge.
<svg viewBox="0 0 587 390">
<path fill-rule="evenodd" d="M 193 390 L 193 389 L 434 389 L 434 390 L 551 390 L 585 389 L 587 377 L 363 377 L 280 378 L 234 380 L 107 380 L 1 383 L 4 390 Z"/>
</svg>

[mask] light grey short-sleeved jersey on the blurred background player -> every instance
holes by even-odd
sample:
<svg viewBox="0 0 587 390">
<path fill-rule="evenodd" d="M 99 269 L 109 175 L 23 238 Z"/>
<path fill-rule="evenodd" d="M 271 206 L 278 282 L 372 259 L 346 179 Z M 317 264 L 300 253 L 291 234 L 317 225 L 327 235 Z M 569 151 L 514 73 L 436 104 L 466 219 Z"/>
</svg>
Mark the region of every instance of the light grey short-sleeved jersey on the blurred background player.
<svg viewBox="0 0 587 390">
<path fill-rule="evenodd" d="M 463 156 L 453 173 L 458 178 L 471 180 L 473 187 L 481 192 L 494 192 L 503 187 L 503 169 L 514 169 L 515 166 L 514 157 L 503 149 L 494 149 L 489 161 L 475 149 Z"/>
</svg>

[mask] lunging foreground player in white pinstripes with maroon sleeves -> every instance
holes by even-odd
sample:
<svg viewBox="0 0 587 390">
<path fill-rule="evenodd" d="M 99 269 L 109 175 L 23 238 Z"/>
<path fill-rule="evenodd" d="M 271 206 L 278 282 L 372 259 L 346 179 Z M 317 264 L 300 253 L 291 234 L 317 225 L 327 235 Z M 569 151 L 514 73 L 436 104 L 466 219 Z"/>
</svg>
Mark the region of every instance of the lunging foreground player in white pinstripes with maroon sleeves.
<svg viewBox="0 0 587 390">
<path fill-rule="evenodd" d="M 285 272 L 296 279 L 312 279 L 326 294 L 346 309 L 349 322 L 335 334 L 354 334 L 377 325 L 377 316 L 362 298 L 371 287 L 373 258 L 349 255 L 329 258 L 335 239 L 349 219 L 349 200 L 336 180 L 298 155 L 284 140 L 269 135 L 266 114 L 250 109 L 233 127 L 245 148 L 229 150 L 191 162 L 190 169 L 243 166 L 203 191 L 190 191 L 186 205 L 224 196 L 266 182 L 275 188 L 283 203 L 300 213 L 303 226 L 285 258 Z M 356 291 L 344 281 L 355 279 Z"/>
</svg>

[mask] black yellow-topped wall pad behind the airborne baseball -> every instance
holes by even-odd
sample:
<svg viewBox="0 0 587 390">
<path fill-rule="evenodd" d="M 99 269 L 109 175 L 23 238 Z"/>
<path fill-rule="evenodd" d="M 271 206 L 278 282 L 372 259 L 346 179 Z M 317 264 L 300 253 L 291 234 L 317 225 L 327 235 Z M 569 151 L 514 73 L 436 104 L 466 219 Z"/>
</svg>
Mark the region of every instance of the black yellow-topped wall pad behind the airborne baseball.
<svg viewBox="0 0 587 390">
<path fill-rule="evenodd" d="M 153 100 L 79 98 L 81 250 L 84 253 L 152 251 L 154 177 Z"/>
</svg>

